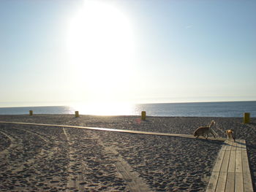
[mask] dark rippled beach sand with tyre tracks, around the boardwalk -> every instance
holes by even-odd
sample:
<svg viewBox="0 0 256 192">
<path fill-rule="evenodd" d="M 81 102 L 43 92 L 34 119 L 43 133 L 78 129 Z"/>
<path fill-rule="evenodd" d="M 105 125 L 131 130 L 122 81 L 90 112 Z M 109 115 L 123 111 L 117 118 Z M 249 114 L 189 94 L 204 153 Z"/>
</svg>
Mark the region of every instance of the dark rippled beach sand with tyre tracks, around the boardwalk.
<svg viewBox="0 0 256 192">
<path fill-rule="evenodd" d="M 211 120 L 246 139 L 256 183 L 256 118 L 0 115 L 0 120 L 192 134 Z M 222 142 L 0 123 L 0 191 L 205 191 Z"/>
</svg>

